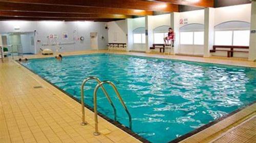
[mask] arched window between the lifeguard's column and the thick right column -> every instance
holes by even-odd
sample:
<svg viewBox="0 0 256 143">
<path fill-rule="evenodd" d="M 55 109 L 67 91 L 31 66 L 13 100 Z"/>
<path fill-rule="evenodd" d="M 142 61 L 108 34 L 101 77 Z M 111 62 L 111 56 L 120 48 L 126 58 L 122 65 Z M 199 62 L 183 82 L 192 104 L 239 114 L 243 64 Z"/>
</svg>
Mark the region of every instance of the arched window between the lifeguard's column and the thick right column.
<svg viewBox="0 0 256 143">
<path fill-rule="evenodd" d="M 204 44 L 204 25 L 191 23 L 180 27 L 181 45 L 203 45 Z"/>
</svg>

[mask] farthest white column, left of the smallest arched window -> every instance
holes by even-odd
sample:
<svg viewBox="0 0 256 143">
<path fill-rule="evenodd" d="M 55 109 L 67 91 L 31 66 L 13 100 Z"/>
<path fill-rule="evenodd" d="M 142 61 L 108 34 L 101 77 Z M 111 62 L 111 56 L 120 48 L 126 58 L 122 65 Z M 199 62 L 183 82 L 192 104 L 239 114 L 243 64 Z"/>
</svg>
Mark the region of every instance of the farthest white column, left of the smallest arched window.
<svg viewBox="0 0 256 143">
<path fill-rule="evenodd" d="M 127 33 L 126 33 L 126 51 L 133 49 L 133 19 L 126 19 Z"/>
</svg>

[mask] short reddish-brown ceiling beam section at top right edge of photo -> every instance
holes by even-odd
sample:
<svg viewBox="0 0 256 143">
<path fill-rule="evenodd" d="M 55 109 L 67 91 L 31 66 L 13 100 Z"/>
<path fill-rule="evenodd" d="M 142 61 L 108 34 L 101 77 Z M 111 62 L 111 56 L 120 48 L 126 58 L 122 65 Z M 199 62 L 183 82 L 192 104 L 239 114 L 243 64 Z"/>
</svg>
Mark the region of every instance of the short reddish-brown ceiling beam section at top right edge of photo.
<svg viewBox="0 0 256 143">
<path fill-rule="evenodd" d="M 146 0 L 154 2 L 172 3 L 176 5 L 186 5 L 193 7 L 214 7 L 214 0 Z"/>
</svg>

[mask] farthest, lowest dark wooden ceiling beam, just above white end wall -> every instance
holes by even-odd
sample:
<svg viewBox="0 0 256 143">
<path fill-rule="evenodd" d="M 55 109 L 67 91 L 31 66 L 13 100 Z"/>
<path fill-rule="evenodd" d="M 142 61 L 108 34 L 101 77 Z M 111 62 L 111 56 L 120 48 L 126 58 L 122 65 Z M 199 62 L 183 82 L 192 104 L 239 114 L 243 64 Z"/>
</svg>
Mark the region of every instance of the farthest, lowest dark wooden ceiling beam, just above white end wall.
<svg viewBox="0 0 256 143">
<path fill-rule="evenodd" d="M 65 17 L 13 17 L 13 16 L 0 16 L 0 20 L 57 20 L 57 21 L 98 21 L 98 22 L 109 22 L 122 19 L 109 19 L 109 18 L 65 18 Z"/>
</svg>

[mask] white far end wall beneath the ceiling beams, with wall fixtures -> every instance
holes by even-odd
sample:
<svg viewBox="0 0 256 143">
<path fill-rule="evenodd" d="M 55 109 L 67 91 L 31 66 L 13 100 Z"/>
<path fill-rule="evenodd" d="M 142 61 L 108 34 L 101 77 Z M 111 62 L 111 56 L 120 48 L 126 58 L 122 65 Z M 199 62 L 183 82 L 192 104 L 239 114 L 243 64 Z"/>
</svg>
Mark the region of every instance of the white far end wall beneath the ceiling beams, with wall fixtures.
<svg viewBox="0 0 256 143">
<path fill-rule="evenodd" d="M 39 52 L 39 48 L 52 48 L 55 46 L 41 46 L 42 44 L 52 43 L 49 42 L 47 36 L 50 34 L 57 34 L 58 38 L 56 42 L 62 43 L 60 47 L 61 52 L 66 51 L 79 51 L 79 50 L 91 50 L 90 47 L 90 32 L 98 33 L 99 49 L 105 49 L 108 43 L 108 31 L 105 30 L 105 22 L 91 22 L 91 21 L 0 21 L 0 33 L 9 32 L 34 32 L 36 30 L 35 45 L 36 52 Z M 19 27 L 19 30 L 14 30 L 14 27 Z M 67 32 L 69 38 L 63 39 L 62 33 Z M 74 40 L 81 36 L 84 37 L 84 41 Z M 101 39 L 101 36 L 104 39 Z M 40 40 L 41 42 L 36 42 Z M 50 40 L 52 41 L 52 40 Z"/>
</svg>

